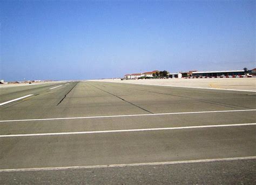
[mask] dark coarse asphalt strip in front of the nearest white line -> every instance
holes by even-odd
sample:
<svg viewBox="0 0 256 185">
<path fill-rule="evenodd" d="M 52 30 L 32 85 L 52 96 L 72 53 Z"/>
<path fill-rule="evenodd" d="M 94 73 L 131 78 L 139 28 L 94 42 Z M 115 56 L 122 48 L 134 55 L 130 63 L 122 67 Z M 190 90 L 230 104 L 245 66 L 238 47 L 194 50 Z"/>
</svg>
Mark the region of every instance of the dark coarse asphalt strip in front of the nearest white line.
<svg viewBox="0 0 256 185">
<path fill-rule="evenodd" d="M 1 184 L 255 184 L 255 161 L 4 172 Z"/>
</svg>

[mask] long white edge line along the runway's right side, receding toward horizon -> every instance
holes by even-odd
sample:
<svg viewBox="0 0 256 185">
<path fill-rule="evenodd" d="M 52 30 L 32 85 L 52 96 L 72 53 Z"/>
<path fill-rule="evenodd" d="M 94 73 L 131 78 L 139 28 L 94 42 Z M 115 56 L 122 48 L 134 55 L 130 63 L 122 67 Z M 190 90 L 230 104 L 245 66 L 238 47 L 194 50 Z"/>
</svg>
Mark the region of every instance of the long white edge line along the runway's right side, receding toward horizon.
<svg viewBox="0 0 256 185">
<path fill-rule="evenodd" d="M 119 83 L 114 81 L 100 81 L 105 83 Z M 176 85 L 161 85 L 161 84 L 142 84 L 142 83 L 123 83 L 123 84 L 134 84 L 134 85 L 150 85 L 150 86 L 167 86 L 167 87 L 181 87 L 181 88 L 199 88 L 199 89 L 205 89 L 205 90 L 224 90 L 224 91 L 242 91 L 242 92 L 256 92 L 253 90 L 233 90 L 228 88 L 210 88 L 210 87 L 190 87 L 190 86 L 176 86 Z"/>
</svg>

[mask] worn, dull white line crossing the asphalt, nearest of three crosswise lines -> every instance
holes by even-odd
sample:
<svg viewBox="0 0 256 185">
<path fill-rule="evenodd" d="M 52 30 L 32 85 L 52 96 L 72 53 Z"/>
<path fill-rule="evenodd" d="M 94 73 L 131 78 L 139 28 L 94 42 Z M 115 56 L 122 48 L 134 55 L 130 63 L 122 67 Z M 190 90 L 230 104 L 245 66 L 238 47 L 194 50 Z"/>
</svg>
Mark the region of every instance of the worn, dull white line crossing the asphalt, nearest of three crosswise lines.
<svg viewBox="0 0 256 185">
<path fill-rule="evenodd" d="M 178 164 L 186 164 L 186 163 L 221 162 L 221 161 L 238 161 L 238 160 L 254 160 L 254 159 L 256 159 L 256 156 L 228 157 L 228 158 L 219 158 L 219 159 L 199 159 L 199 160 L 187 160 L 187 161 L 145 162 L 145 163 L 130 163 L 130 164 L 115 164 L 115 165 L 67 166 L 67 167 L 46 167 L 46 168 L 16 168 L 16 169 L 13 168 L 13 169 L 0 169 L 0 172 L 29 172 L 29 171 L 66 170 L 66 169 L 178 165 Z"/>
</svg>

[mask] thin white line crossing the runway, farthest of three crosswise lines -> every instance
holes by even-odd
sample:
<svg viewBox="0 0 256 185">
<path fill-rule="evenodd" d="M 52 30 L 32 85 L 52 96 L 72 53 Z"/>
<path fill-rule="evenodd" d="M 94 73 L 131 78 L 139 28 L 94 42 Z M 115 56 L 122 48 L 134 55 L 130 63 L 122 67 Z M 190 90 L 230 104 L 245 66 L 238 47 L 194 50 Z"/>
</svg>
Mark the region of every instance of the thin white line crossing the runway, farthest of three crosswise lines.
<svg viewBox="0 0 256 185">
<path fill-rule="evenodd" d="M 172 114 L 202 114 L 202 113 L 224 113 L 224 112 L 246 112 L 256 111 L 256 109 L 240 109 L 228 111 L 201 111 L 201 112 L 172 112 L 172 113 L 156 113 L 156 114 L 128 114 L 128 115 L 102 115 L 96 117 L 68 117 L 68 118 L 44 118 L 44 119 L 24 119 L 24 120 L 0 120 L 0 122 L 16 122 L 16 121 L 50 121 L 50 120 L 70 120 L 70 119 L 93 119 L 93 118 L 119 118 L 119 117 L 139 117 L 139 116 L 155 116 L 155 115 L 172 115 Z"/>
</svg>

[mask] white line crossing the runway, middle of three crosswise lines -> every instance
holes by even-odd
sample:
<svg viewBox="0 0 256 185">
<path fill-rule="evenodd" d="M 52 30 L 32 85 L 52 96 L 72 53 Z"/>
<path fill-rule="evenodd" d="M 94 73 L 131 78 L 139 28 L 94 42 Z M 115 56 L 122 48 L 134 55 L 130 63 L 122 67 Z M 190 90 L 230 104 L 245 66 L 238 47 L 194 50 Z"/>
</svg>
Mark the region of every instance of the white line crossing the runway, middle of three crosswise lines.
<svg viewBox="0 0 256 185">
<path fill-rule="evenodd" d="M 10 134 L 0 135 L 0 138 L 23 137 L 23 136 L 47 136 L 47 135 L 72 135 L 72 134 L 100 134 L 100 133 L 116 133 L 116 132 L 142 132 L 142 131 L 163 131 L 174 129 L 197 129 L 197 128 L 212 128 L 212 127 L 235 127 L 235 126 L 251 126 L 250 124 L 227 124 L 227 125 L 201 125 L 201 126 L 187 126 L 187 127 L 166 127 L 166 128 L 142 128 L 142 129 L 124 129 L 112 131 L 84 131 L 84 132 L 57 132 L 57 133 L 39 133 L 39 134 Z"/>
</svg>

